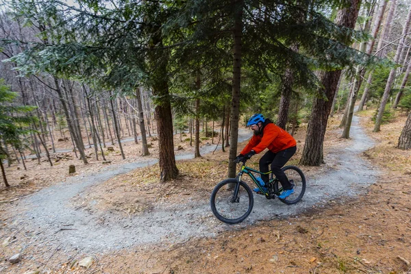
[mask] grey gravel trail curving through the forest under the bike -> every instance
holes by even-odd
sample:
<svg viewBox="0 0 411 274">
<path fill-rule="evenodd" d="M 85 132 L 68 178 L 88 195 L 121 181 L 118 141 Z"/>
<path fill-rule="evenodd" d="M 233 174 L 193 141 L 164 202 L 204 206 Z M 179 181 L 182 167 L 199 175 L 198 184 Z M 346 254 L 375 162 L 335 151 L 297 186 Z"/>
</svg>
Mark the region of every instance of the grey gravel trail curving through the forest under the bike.
<svg viewBox="0 0 411 274">
<path fill-rule="evenodd" d="M 250 136 L 249 131 L 242 133 L 239 141 Z M 333 161 L 339 163 L 337 169 L 330 169 L 321 177 L 307 178 L 308 186 L 303 201 L 295 206 L 286 206 L 277 199 L 267 201 L 261 195 L 255 195 L 253 212 L 239 225 L 230 226 L 218 221 L 210 210 L 209 197 L 204 197 L 203 201 L 182 201 L 162 206 L 130 218 L 124 218 L 118 212 L 93 213 L 71 207 L 70 199 L 81 195 L 85 188 L 105 182 L 115 175 L 154 164 L 157 160 L 110 166 L 98 174 L 71 177 L 64 183 L 40 190 L 18 203 L 18 207 L 23 207 L 23 210 L 14 216 L 14 223 L 33 232 L 32 242 L 26 245 L 77 249 L 87 253 L 143 244 L 169 245 L 197 236 L 215 236 L 227 229 L 245 227 L 279 215 L 299 214 L 314 204 L 344 195 L 355 196 L 364 191 L 364 186 L 375 182 L 376 171 L 358 154 L 372 147 L 373 142 L 358 126 L 356 116 L 353 117 L 350 142 L 350 147 L 334 150 L 325 158 L 326 162 L 334 158 Z M 214 147 L 206 149 L 208 151 L 202 153 L 210 152 Z M 192 155 L 182 155 L 180 158 L 192 158 Z"/>
</svg>

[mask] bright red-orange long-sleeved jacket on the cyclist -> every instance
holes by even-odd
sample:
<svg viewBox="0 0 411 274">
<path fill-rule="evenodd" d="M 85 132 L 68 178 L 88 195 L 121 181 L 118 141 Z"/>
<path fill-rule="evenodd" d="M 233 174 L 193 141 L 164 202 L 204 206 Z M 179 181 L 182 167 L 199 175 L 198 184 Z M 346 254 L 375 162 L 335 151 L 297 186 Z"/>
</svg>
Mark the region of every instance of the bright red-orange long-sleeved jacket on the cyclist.
<svg viewBox="0 0 411 274">
<path fill-rule="evenodd" d="M 242 149 L 241 154 L 245 155 L 251 150 L 260 153 L 264 149 L 277 153 L 296 145 L 297 142 L 288 132 L 273 123 L 267 123 L 262 129 L 262 134 L 253 134 L 248 144 Z"/>
</svg>

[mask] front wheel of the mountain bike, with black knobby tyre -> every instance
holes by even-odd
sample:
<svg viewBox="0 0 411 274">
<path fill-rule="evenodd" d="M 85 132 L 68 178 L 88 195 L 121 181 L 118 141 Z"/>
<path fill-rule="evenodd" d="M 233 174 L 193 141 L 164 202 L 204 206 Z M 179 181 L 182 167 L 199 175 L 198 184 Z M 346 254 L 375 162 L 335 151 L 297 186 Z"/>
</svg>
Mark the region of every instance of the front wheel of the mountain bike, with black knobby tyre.
<svg viewBox="0 0 411 274">
<path fill-rule="evenodd" d="M 240 223 L 253 209 L 253 192 L 245 182 L 225 179 L 212 190 L 210 204 L 212 213 L 220 221 L 230 225 Z"/>
</svg>

